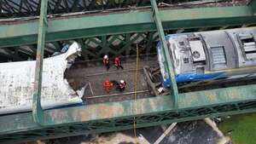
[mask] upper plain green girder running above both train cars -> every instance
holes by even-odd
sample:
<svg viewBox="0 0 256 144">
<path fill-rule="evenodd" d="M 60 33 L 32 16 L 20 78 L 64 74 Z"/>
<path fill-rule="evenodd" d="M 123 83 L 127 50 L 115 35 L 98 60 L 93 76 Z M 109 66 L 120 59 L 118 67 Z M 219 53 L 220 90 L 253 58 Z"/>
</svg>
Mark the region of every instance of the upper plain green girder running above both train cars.
<svg viewBox="0 0 256 144">
<path fill-rule="evenodd" d="M 192 27 L 255 24 L 250 6 L 197 9 L 160 9 L 165 30 Z M 79 37 L 155 32 L 151 11 L 133 10 L 121 14 L 77 15 L 49 18 L 46 42 Z M 0 48 L 37 43 L 38 20 L 0 22 Z"/>
</svg>

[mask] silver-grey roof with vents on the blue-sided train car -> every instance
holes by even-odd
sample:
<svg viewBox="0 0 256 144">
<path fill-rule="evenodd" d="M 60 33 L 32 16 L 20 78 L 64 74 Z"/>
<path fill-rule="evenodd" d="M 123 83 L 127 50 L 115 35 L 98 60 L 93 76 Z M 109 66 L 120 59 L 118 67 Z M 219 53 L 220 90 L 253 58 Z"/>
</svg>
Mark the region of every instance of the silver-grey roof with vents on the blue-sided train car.
<svg viewBox="0 0 256 144">
<path fill-rule="evenodd" d="M 256 66 L 256 27 L 167 35 L 178 73 Z"/>
</svg>

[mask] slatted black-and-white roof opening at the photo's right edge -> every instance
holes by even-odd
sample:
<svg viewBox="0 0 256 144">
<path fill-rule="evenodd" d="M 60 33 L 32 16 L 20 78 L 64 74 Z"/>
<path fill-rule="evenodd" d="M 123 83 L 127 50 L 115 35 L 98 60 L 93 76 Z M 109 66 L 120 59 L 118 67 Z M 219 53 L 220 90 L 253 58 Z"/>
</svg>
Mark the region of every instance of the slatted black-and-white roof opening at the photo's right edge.
<svg viewBox="0 0 256 144">
<path fill-rule="evenodd" d="M 238 37 L 241 43 L 241 50 L 246 59 L 256 59 L 256 42 L 253 34 L 239 34 Z"/>
</svg>

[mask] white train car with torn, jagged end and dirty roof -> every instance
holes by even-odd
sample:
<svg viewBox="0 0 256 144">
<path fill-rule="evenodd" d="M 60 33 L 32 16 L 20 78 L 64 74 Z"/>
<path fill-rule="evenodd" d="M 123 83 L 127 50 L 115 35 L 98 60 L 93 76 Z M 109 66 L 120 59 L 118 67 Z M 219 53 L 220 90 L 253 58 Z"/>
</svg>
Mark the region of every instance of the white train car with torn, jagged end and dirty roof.
<svg viewBox="0 0 256 144">
<path fill-rule="evenodd" d="M 44 109 L 82 105 L 84 89 L 75 91 L 64 78 L 65 70 L 80 51 L 71 44 L 65 53 L 44 59 L 41 101 Z M 32 111 L 36 61 L 0 63 L 0 114 Z"/>
</svg>

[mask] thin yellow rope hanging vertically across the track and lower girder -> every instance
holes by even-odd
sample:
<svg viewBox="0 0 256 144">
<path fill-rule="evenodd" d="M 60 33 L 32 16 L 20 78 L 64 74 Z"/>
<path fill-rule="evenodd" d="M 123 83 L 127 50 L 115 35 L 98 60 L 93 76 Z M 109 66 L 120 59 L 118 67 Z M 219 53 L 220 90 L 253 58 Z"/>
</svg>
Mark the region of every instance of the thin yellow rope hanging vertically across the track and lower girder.
<svg viewBox="0 0 256 144">
<path fill-rule="evenodd" d="M 137 51 L 137 56 L 136 56 L 136 71 L 135 71 L 135 80 L 134 80 L 134 113 L 137 113 L 137 70 L 138 70 L 138 66 L 139 66 L 139 50 L 138 50 L 138 46 L 136 48 Z M 137 131 L 136 131 L 136 117 L 133 117 L 133 132 L 134 132 L 134 137 L 135 137 L 135 141 L 137 143 Z"/>
</svg>

